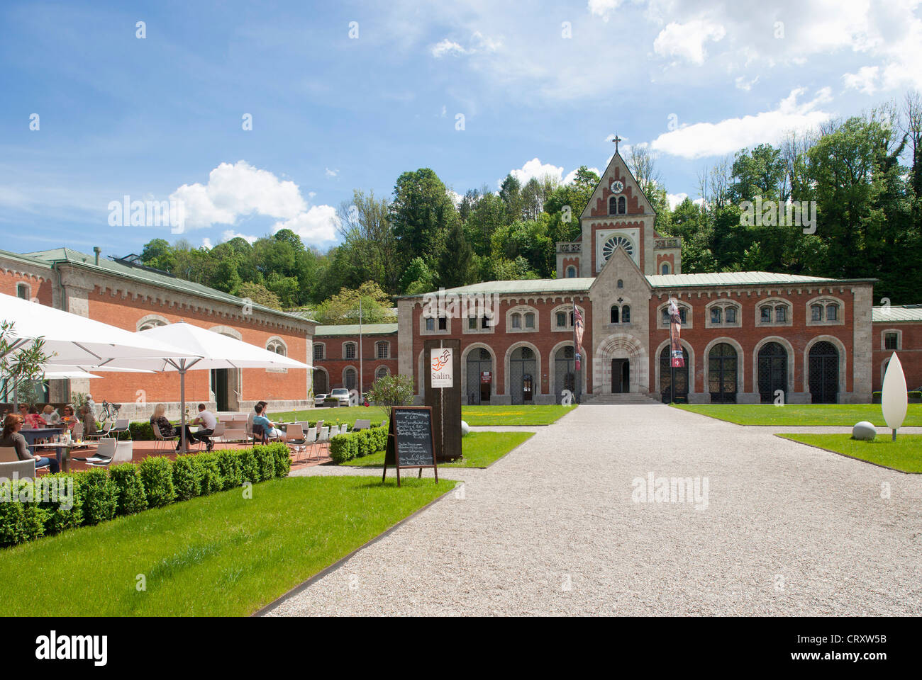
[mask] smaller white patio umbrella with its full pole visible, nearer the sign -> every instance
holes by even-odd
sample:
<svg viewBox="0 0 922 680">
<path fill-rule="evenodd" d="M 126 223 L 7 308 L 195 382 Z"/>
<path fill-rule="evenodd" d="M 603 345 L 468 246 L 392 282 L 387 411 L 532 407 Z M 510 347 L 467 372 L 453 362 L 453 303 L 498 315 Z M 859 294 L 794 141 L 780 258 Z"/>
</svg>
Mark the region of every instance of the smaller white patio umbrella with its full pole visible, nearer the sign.
<svg viewBox="0 0 922 680">
<path fill-rule="evenodd" d="M 124 358 L 112 361 L 112 366 L 117 367 L 179 372 L 180 413 L 182 415 L 180 441 L 183 451 L 185 451 L 185 372 L 187 370 L 313 369 L 313 366 L 301 363 L 301 361 L 186 322 L 148 328 L 145 331 L 139 331 L 136 335 L 183 347 L 195 355 L 194 358 Z"/>
</svg>

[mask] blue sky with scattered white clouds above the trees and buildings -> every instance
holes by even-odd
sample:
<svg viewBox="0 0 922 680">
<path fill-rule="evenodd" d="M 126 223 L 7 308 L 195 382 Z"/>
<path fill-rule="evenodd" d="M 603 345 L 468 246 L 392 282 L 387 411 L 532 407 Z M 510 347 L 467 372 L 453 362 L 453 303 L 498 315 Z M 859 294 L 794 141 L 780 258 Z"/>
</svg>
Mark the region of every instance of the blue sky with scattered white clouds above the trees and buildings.
<svg viewBox="0 0 922 680">
<path fill-rule="evenodd" d="M 613 133 L 695 197 L 739 147 L 902 102 L 917 64 L 919 0 L 5 2 L 0 247 L 179 238 L 113 227 L 128 195 L 182 200 L 196 246 L 288 227 L 323 251 L 353 188 L 565 180 Z"/>
</svg>

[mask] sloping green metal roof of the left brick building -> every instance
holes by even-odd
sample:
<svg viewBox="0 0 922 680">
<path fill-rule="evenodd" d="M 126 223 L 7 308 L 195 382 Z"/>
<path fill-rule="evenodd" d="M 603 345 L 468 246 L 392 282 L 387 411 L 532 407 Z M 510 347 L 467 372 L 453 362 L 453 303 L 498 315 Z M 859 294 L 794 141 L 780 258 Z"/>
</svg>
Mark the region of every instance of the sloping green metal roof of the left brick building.
<svg viewBox="0 0 922 680">
<path fill-rule="evenodd" d="M 195 295 L 199 298 L 226 302 L 227 304 L 234 305 L 235 307 L 242 307 L 244 305 L 242 298 L 238 298 L 235 295 L 225 293 L 216 288 L 208 287 L 200 283 L 195 283 L 195 281 L 186 281 L 183 278 L 169 276 L 166 274 L 159 274 L 158 272 L 150 271 L 149 269 L 139 269 L 129 264 L 122 264 L 120 262 L 103 259 L 101 257 L 100 264 L 96 264 L 95 255 L 88 255 L 86 252 L 75 251 L 71 248 L 53 248 L 49 251 L 27 252 L 24 256 L 38 261 L 43 261 L 48 264 L 52 264 L 54 262 L 73 264 L 78 267 L 95 270 L 110 276 L 127 278 L 139 283 L 146 283 L 153 286 L 168 288 L 170 290 Z M 266 314 L 274 314 L 276 316 L 287 317 L 292 321 L 316 323 L 313 321 L 313 319 L 308 319 L 298 314 L 290 314 L 287 311 L 274 310 L 271 307 L 266 307 L 265 305 L 257 304 L 255 302 L 253 303 L 253 309 L 262 311 Z"/>
</svg>

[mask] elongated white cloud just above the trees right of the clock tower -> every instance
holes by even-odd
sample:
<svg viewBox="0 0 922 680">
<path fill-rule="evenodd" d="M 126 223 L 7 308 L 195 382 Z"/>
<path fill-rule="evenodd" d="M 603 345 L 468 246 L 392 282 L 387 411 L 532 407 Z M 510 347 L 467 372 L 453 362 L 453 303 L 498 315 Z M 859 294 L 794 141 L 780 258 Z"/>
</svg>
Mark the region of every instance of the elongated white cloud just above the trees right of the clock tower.
<svg viewBox="0 0 922 680">
<path fill-rule="evenodd" d="M 727 118 L 720 123 L 694 123 L 659 135 L 650 146 L 655 151 L 682 158 L 723 156 L 743 147 L 776 144 L 791 130 L 810 129 L 827 121 L 832 114 L 818 109 L 830 100 L 829 88 L 803 104 L 797 98 L 806 90 L 791 91 L 774 111 L 762 111 L 742 118 Z"/>
</svg>

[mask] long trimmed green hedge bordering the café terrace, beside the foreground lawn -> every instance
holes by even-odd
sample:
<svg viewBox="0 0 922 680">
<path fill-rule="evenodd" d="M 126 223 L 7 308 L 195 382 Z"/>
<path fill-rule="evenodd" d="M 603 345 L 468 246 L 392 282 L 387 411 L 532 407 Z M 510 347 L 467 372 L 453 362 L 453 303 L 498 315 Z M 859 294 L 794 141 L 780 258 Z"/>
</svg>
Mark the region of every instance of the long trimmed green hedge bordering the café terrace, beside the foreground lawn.
<svg viewBox="0 0 922 680">
<path fill-rule="evenodd" d="M 276 443 L 183 455 L 174 462 L 149 456 L 109 470 L 43 475 L 35 481 L 2 479 L 0 547 L 240 487 L 243 482 L 285 477 L 290 466 L 288 446 Z M 72 503 L 42 493 L 59 486 L 70 487 L 67 498 Z"/>
</svg>

